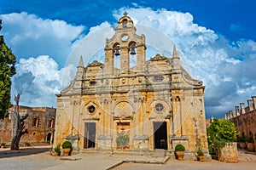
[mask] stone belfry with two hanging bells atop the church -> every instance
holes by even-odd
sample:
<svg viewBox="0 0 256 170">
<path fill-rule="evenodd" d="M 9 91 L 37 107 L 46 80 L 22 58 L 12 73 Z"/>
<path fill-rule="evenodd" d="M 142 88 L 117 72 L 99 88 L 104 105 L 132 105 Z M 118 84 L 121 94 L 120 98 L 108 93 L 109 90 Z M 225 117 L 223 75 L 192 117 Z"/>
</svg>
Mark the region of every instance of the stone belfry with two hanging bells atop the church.
<svg viewBox="0 0 256 170">
<path fill-rule="evenodd" d="M 105 47 L 105 74 L 113 75 L 115 58 L 120 57 L 120 74 L 129 74 L 130 59 L 136 57 L 136 66 L 133 71 L 144 71 L 145 65 L 145 36 L 138 36 L 133 21 L 127 13 L 118 21 L 115 34 L 106 39 Z"/>
</svg>

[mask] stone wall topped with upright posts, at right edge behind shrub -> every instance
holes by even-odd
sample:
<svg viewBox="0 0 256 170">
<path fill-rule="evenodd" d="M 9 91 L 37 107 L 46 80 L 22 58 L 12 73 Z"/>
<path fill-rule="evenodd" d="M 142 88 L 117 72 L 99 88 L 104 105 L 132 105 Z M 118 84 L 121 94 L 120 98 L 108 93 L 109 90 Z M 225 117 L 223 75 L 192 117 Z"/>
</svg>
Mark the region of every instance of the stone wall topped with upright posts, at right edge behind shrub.
<svg viewBox="0 0 256 170">
<path fill-rule="evenodd" d="M 250 139 L 256 139 L 256 96 L 247 100 L 247 107 L 244 103 L 240 103 L 240 107 L 236 106 L 235 109 L 228 111 L 225 119 L 235 123 L 236 131 L 240 132 L 240 136 L 244 134 Z"/>
</svg>

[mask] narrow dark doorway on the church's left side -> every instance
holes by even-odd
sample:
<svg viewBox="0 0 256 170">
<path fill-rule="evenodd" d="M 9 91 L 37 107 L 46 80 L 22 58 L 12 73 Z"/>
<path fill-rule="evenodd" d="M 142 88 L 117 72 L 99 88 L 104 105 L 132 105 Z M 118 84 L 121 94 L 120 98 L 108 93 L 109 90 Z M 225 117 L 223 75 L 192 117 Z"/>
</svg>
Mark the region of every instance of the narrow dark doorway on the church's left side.
<svg viewBox="0 0 256 170">
<path fill-rule="evenodd" d="M 96 123 L 84 123 L 84 149 L 95 148 L 96 141 Z"/>
</svg>

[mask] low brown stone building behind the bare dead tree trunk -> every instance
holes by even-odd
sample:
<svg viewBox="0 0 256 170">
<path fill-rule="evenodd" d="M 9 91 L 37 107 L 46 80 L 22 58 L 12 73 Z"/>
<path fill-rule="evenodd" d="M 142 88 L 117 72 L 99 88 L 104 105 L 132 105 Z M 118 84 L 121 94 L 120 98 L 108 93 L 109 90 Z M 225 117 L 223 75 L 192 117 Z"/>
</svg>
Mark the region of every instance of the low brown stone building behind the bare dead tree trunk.
<svg viewBox="0 0 256 170">
<path fill-rule="evenodd" d="M 15 110 L 15 106 L 11 108 Z M 55 108 L 49 107 L 27 107 L 20 105 L 20 115 L 28 114 L 26 118 L 26 127 L 28 133 L 25 133 L 21 139 L 20 144 L 25 141 L 30 144 L 52 143 L 55 133 Z M 11 143 L 12 139 L 12 125 L 11 119 L 6 118 L 0 120 L 0 142 L 7 144 Z"/>
</svg>

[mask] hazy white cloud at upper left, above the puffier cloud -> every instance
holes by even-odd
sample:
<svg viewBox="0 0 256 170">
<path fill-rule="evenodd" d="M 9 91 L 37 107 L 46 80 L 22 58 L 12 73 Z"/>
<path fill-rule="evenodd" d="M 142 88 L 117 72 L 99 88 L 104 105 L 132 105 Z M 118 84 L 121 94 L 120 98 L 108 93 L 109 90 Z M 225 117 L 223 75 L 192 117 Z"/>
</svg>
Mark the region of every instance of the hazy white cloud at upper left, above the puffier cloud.
<svg viewBox="0 0 256 170">
<path fill-rule="evenodd" d="M 44 20 L 25 12 L 1 14 L 5 42 L 18 59 L 48 54 L 63 66 L 73 42 L 79 40 L 84 26 L 63 20 Z M 64 59 L 63 59 L 64 58 Z"/>
</svg>

